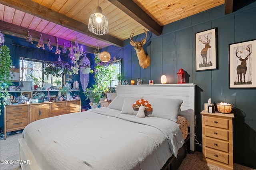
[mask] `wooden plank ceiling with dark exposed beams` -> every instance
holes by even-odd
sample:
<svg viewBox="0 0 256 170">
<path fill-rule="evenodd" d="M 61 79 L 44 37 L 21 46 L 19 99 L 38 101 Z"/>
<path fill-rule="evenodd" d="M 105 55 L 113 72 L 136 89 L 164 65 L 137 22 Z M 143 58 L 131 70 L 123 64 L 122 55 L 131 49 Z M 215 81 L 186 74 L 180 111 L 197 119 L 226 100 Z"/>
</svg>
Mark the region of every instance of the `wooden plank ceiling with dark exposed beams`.
<svg viewBox="0 0 256 170">
<path fill-rule="evenodd" d="M 233 1 L 227 0 L 231 13 Z M 199 12 L 222 5 L 225 0 L 99 0 L 102 13 L 108 18 L 109 33 L 97 36 L 88 30 L 90 14 L 95 12 L 98 0 L 0 0 L 0 30 L 25 38 L 29 30 L 33 40 L 40 33 L 59 45 L 75 42 L 95 49 L 108 45 L 122 47 L 122 41 L 143 33 L 142 29 L 162 34 L 162 26 Z M 73 43 L 74 44 L 74 43 Z"/>
</svg>

